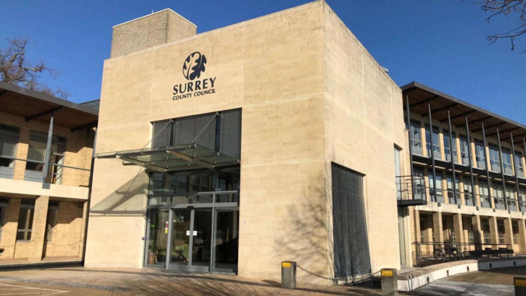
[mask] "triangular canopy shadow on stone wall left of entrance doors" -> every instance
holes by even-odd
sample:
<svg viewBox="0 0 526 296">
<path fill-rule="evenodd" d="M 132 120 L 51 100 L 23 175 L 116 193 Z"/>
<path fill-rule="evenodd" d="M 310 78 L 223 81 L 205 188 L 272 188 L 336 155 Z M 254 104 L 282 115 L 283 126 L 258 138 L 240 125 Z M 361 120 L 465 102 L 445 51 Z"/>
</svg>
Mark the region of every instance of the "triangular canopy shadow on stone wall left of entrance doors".
<svg viewBox="0 0 526 296">
<path fill-rule="evenodd" d="M 90 213 L 103 215 L 144 215 L 148 175 L 142 168 L 117 190 L 93 205 Z"/>
</svg>

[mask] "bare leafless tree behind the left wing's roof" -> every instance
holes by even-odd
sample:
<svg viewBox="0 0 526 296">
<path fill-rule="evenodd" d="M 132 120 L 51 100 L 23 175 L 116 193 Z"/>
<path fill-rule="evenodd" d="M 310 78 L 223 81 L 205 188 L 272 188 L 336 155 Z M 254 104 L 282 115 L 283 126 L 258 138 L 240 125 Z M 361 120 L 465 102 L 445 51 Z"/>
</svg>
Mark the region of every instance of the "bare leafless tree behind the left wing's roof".
<svg viewBox="0 0 526 296">
<path fill-rule="evenodd" d="M 6 50 L 0 50 L 0 81 L 11 84 L 25 86 L 30 90 L 43 92 L 48 95 L 66 99 L 69 92 L 62 87 L 52 90 L 46 84 L 39 82 L 42 73 L 47 72 L 53 78 L 57 76 L 57 71 L 48 68 L 42 60 L 32 65 L 26 61 L 26 46 L 29 40 L 15 38 L 9 40 Z"/>
</svg>

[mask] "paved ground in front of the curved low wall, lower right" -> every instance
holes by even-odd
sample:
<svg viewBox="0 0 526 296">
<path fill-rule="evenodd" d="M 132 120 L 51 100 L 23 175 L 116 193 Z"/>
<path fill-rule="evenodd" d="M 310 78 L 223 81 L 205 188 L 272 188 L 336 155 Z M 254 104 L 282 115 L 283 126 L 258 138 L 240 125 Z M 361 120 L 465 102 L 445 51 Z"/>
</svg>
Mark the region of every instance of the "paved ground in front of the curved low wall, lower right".
<svg viewBox="0 0 526 296">
<path fill-rule="evenodd" d="M 526 276 L 526 267 L 473 271 L 443 278 L 410 294 L 433 296 L 514 296 L 513 277 Z"/>
</svg>

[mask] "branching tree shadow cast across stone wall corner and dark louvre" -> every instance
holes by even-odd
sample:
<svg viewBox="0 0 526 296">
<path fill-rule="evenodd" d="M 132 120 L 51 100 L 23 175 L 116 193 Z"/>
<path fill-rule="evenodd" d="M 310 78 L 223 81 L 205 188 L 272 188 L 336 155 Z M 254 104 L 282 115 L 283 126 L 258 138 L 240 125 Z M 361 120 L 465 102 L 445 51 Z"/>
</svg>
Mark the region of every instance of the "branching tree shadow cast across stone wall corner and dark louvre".
<svg viewBox="0 0 526 296">
<path fill-rule="evenodd" d="M 331 188 L 330 178 L 327 179 L 327 188 Z M 304 190 L 300 203 L 287 206 L 287 215 L 284 216 L 282 224 L 284 229 L 290 231 L 281 233 L 276 238 L 275 254 L 280 261 L 296 261 L 302 268 L 329 278 L 330 280 L 324 279 L 325 283 L 354 284 L 369 278 L 370 273 L 368 242 L 359 241 L 358 238 L 361 236 L 357 235 L 355 226 L 366 223 L 359 221 L 365 218 L 353 214 L 350 203 L 343 204 L 340 210 L 347 211 L 348 214 L 338 216 L 341 229 L 335 229 L 333 232 L 332 200 L 331 196 L 327 196 L 328 192 L 323 186 L 318 186 L 314 190 Z M 351 198 L 348 196 L 348 199 Z M 348 233 L 343 233 L 345 231 Z M 336 249 L 333 245 L 335 242 L 333 235 L 338 235 L 340 238 L 339 247 Z M 357 267 L 362 264 L 368 265 L 369 270 L 361 272 Z M 335 265 L 338 266 L 337 270 Z M 335 274 L 342 276 L 335 279 Z M 304 282 L 316 280 L 314 275 L 309 275 L 301 269 L 298 269 L 297 277 L 298 280 L 304 277 Z M 362 288 L 349 287 L 349 289 Z"/>
</svg>

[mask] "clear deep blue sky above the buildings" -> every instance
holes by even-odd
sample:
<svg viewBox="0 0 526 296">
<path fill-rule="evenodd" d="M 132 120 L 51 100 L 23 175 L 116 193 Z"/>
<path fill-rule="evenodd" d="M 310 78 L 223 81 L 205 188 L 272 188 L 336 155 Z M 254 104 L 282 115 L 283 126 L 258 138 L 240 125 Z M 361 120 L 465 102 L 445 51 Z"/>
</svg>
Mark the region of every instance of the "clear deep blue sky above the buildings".
<svg viewBox="0 0 526 296">
<path fill-rule="evenodd" d="M 0 2 L 0 48 L 7 38 L 27 36 L 29 61 L 42 58 L 59 71 L 51 86 L 84 102 L 100 95 L 103 61 L 112 26 L 172 8 L 197 25 L 197 33 L 309 2 L 265 1 L 28 1 Z M 519 49 L 508 41 L 488 45 L 484 35 L 511 28 L 514 19 L 484 21 L 473 0 L 327 0 L 398 85 L 418 81 L 461 100 L 526 123 L 526 36 Z M 521 47 L 522 46 L 522 47 Z"/>
</svg>

